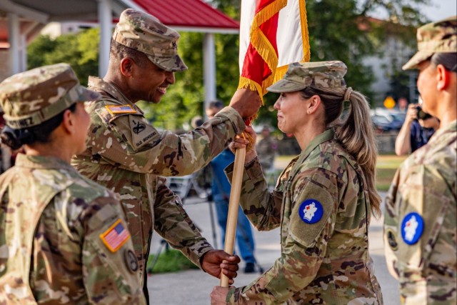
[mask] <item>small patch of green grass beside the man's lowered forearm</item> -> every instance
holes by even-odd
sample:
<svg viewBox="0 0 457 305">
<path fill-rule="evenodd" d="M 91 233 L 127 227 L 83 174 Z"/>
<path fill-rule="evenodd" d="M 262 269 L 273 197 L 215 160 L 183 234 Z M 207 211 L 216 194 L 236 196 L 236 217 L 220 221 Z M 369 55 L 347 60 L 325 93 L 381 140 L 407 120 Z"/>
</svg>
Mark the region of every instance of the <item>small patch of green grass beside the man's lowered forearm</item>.
<svg viewBox="0 0 457 305">
<path fill-rule="evenodd" d="M 146 271 L 148 274 L 161 274 L 166 272 L 176 272 L 188 269 L 199 269 L 194 263 L 181 253 L 181 251 L 174 249 L 167 249 L 166 251 L 159 254 L 154 269 L 151 269 L 152 263 L 156 255 L 150 255 L 148 264 L 146 265 Z"/>
</svg>

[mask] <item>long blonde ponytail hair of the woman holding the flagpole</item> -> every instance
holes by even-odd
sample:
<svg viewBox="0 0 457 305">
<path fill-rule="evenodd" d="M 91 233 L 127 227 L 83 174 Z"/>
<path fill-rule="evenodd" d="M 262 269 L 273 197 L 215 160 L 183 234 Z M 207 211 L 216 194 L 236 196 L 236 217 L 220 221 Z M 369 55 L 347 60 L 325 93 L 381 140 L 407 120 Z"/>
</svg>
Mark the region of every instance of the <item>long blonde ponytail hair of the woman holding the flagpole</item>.
<svg viewBox="0 0 457 305">
<path fill-rule="evenodd" d="M 368 189 L 368 200 L 371 212 L 375 216 L 381 215 L 381 196 L 376 191 L 376 156 L 378 148 L 371 124 L 370 108 L 365 96 L 358 91 L 346 87 L 340 88 L 313 88 L 306 87 L 301 95 L 309 99 L 318 95 L 323 101 L 326 126 L 336 121 L 343 111 L 343 102 L 346 99 L 351 104 L 347 119 L 342 124 L 335 125 L 335 135 L 338 142 L 353 156 L 361 166 Z"/>
</svg>

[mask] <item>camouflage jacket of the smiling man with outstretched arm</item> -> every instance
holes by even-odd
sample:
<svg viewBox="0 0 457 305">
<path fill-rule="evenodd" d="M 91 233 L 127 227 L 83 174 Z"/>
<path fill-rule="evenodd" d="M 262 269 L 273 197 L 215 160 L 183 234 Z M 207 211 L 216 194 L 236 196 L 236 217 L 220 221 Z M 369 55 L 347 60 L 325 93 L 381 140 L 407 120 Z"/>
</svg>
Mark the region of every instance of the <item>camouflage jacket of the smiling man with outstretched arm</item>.
<svg viewBox="0 0 457 305">
<path fill-rule="evenodd" d="M 116 86 L 89 78 L 104 96 L 89 106 L 87 149 L 72 164 L 84 176 L 121 196 L 141 271 L 155 229 L 197 266 L 211 246 L 160 176 L 191 174 L 209 163 L 245 125 L 230 107 L 188 134 L 159 133 Z"/>
</svg>

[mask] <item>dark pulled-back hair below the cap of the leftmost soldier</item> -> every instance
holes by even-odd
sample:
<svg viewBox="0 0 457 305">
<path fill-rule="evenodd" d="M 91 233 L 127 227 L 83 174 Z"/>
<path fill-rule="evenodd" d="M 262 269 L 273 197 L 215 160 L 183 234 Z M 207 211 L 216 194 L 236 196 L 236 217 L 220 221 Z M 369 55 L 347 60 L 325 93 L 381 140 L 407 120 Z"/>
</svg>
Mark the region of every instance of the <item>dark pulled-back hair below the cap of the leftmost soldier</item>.
<svg viewBox="0 0 457 305">
<path fill-rule="evenodd" d="M 71 112 L 76 111 L 76 103 L 69 106 L 67 109 Z M 1 143 L 6 144 L 6 146 L 11 147 L 11 149 L 19 149 L 25 144 L 31 145 L 49 142 L 51 132 L 60 126 L 64 120 L 64 112 L 67 109 L 36 126 L 13 129 L 6 125 L 0 134 Z"/>
</svg>

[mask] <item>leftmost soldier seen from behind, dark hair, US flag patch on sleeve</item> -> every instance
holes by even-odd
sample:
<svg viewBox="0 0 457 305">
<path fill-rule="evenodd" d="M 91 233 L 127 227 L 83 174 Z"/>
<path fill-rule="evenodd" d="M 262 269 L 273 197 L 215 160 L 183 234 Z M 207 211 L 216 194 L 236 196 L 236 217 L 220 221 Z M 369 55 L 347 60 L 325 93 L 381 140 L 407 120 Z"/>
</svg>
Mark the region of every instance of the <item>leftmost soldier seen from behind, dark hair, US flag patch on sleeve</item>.
<svg viewBox="0 0 457 305">
<path fill-rule="evenodd" d="M 0 84 L 2 141 L 26 151 L 0 176 L 0 304 L 146 304 L 119 200 L 69 164 L 85 148 L 82 102 L 98 97 L 68 64 Z"/>
</svg>

